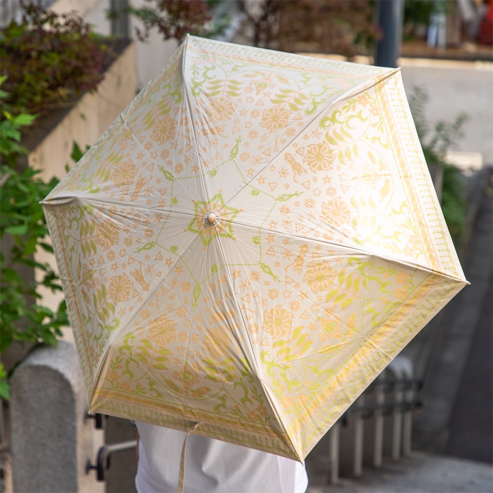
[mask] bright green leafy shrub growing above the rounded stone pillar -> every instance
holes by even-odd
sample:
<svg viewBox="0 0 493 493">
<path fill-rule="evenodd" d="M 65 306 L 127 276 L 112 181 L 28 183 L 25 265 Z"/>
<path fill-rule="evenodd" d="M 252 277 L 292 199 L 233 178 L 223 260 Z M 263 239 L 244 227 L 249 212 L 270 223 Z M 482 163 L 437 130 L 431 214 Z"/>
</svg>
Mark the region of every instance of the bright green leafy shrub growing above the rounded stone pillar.
<svg viewBox="0 0 493 493">
<path fill-rule="evenodd" d="M 5 79 L 1 77 L 0 84 Z M 6 96 L 7 93 L 0 91 L 1 99 Z M 33 256 L 38 248 L 53 251 L 45 241 L 48 229 L 39 201 L 58 180 L 53 178 L 46 183 L 30 167 L 24 171 L 15 169 L 19 156 L 27 152 L 19 144 L 21 129 L 29 126 L 35 116 L 21 112 L 14 117 L 4 108 L 2 115 L 0 155 L 6 164 L 1 166 L 0 178 L 0 240 L 4 242 L 10 237 L 3 245 L 12 246 L 8 251 L 3 247 L 0 252 L 0 352 L 8 349 L 14 340 L 56 344 L 57 336 L 62 334 L 60 328 L 69 324 L 65 302 L 57 312 L 42 305 L 40 285 L 53 291 L 62 287 L 53 269 L 36 262 Z M 43 279 L 26 279 L 20 274 L 23 267 L 39 269 Z M 0 396 L 8 399 L 8 391 L 8 375 L 0 364 Z"/>
</svg>

